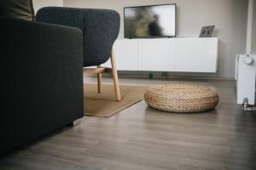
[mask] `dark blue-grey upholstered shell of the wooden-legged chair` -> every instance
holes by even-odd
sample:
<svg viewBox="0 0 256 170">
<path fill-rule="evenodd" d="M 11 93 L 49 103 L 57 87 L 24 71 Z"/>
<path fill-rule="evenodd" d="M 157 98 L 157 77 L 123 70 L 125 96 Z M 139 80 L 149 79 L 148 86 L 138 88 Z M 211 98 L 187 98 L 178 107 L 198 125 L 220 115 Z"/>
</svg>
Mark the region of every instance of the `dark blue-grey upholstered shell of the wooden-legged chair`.
<svg viewBox="0 0 256 170">
<path fill-rule="evenodd" d="M 119 35 L 119 13 L 109 9 L 46 7 L 38 10 L 36 20 L 81 29 L 84 67 L 106 62 Z"/>
</svg>

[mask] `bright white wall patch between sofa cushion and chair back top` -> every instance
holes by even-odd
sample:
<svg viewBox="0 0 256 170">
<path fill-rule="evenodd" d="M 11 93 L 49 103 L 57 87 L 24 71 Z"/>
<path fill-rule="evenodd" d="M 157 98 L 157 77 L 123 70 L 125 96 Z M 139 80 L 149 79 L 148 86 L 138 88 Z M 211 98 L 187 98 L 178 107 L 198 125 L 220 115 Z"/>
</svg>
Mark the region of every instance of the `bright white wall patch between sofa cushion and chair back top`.
<svg viewBox="0 0 256 170">
<path fill-rule="evenodd" d="M 33 6 L 35 13 L 37 13 L 39 8 L 47 6 L 57 6 L 63 7 L 63 0 L 33 0 Z"/>
</svg>

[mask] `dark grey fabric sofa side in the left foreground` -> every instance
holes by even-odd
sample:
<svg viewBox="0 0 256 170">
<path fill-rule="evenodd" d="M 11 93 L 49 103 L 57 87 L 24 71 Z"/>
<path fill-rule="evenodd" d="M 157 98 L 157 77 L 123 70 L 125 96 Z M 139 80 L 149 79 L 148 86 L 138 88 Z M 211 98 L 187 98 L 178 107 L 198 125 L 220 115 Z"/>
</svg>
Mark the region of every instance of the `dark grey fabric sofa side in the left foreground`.
<svg viewBox="0 0 256 170">
<path fill-rule="evenodd" d="M 82 117 L 84 97 L 82 31 L 0 22 L 2 152 Z"/>
</svg>

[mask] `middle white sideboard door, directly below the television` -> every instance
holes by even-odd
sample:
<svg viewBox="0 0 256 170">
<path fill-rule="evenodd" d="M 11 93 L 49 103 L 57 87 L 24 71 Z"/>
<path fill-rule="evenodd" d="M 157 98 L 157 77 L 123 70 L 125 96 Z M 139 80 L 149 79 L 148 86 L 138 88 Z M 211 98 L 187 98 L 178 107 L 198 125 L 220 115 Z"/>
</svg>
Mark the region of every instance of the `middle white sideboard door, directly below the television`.
<svg viewBox="0 0 256 170">
<path fill-rule="evenodd" d="M 138 40 L 139 71 L 175 71 L 175 39 Z"/>
</svg>

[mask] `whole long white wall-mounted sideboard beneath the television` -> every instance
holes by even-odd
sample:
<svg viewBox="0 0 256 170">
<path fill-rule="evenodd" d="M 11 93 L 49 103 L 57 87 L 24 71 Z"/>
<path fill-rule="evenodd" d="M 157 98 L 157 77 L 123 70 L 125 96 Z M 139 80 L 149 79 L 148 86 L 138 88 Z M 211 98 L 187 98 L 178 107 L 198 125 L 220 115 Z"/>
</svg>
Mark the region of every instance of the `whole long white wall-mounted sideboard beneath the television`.
<svg viewBox="0 0 256 170">
<path fill-rule="evenodd" d="M 113 50 L 119 71 L 217 71 L 217 37 L 118 39 Z"/>
</svg>

